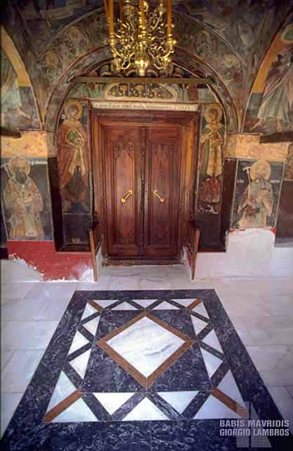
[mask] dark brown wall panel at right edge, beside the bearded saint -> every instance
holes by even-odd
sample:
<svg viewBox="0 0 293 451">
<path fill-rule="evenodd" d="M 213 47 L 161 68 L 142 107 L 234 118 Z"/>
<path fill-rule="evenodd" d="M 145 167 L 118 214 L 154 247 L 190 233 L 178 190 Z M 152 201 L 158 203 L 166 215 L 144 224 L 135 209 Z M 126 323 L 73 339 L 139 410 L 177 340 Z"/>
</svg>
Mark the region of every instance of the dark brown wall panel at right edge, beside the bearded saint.
<svg viewBox="0 0 293 451">
<path fill-rule="evenodd" d="M 280 195 L 276 242 L 284 239 L 293 240 L 293 180 L 283 180 Z"/>
</svg>

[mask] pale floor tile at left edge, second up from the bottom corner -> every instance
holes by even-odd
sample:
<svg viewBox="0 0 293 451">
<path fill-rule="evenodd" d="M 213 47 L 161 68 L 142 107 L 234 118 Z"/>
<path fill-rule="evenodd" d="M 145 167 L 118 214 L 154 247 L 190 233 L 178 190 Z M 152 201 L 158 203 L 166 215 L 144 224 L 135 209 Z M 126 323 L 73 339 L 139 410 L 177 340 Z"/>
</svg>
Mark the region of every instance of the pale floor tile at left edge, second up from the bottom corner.
<svg viewBox="0 0 293 451">
<path fill-rule="evenodd" d="M 41 350 L 15 351 L 1 373 L 1 392 L 24 392 L 43 356 Z"/>
</svg>

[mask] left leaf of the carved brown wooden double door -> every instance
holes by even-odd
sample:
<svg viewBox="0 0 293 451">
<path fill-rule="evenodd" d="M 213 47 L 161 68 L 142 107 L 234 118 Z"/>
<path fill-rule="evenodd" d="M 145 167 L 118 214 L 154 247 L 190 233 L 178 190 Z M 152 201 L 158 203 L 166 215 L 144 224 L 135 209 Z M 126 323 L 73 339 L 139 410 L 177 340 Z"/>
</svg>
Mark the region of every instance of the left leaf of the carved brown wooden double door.
<svg viewBox="0 0 293 451">
<path fill-rule="evenodd" d="M 141 241 L 140 129 L 103 126 L 110 257 L 137 257 Z"/>
</svg>

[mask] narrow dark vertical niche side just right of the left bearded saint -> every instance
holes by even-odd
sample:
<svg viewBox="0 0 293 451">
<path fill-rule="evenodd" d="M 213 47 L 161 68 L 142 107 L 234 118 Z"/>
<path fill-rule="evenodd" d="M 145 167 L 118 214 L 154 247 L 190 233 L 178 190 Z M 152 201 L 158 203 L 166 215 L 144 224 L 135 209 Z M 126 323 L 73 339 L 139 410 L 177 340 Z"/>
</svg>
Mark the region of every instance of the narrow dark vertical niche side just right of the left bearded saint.
<svg viewBox="0 0 293 451">
<path fill-rule="evenodd" d="M 50 190 L 52 199 L 52 218 L 54 228 L 54 240 L 56 250 L 63 247 L 63 216 L 62 216 L 62 202 L 59 189 L 59 173 L 57 158 L 48 158 L 48 176 L 50 180 Z"/>
</svg>

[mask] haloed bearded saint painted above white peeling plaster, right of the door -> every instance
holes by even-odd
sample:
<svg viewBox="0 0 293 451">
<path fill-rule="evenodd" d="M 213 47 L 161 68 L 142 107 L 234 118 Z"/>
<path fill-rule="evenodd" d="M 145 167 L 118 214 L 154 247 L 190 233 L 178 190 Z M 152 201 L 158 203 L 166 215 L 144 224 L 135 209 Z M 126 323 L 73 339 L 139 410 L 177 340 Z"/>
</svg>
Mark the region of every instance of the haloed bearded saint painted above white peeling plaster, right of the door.
<svg viewBox="0 0 293 451">
<path fill-rule="evenodd" d="M 271 166 L 268 161 L 258 160 L 245 168 L 249 185 L 242 194 L 238 214 L 242 214 L 238 225 L 241 228 L 267 227 L 268 217 L 273 212 L 273 189 L 269 181 Z"/>
</svg>

